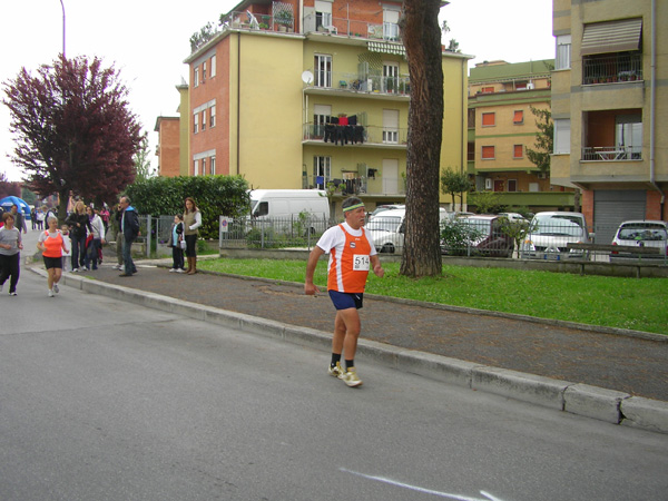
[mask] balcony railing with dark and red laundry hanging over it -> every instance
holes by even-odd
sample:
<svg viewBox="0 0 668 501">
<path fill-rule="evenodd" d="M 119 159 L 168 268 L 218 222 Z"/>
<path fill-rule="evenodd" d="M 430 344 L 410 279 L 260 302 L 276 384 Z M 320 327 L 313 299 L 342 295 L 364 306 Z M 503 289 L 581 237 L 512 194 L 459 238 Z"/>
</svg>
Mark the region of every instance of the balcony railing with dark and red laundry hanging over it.
<svg viewBox="0 0 668 501">
<path fill-rule="evenodd" d="M 332 124 L 304 124 L 304 140 L 332 143 L 334 145 L 405 146 L 409 129 L 379 126 L 338 126 Z"/>
</svg>

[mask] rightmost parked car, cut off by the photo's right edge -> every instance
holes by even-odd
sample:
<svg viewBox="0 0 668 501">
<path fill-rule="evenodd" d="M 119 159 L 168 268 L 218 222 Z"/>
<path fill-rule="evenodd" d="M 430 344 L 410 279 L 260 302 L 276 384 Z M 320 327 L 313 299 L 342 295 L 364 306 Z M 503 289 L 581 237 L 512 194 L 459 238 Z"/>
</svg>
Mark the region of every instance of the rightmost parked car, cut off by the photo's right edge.
<svg viewBox="0 0 668 501">
<path fill-rule="evenodd" d="M 660 254 L 642 254 L 642 259 L 668 257 L 668 224 L 662 220 L 625 220 L 619 225 L 612 238 L 612 245 L 629 245 L 638 247 L 657 247 Z M 628 258 L 638 259 L 640 255 L 633 253 L 613 252 L 610 262 Z"/>
</svg>

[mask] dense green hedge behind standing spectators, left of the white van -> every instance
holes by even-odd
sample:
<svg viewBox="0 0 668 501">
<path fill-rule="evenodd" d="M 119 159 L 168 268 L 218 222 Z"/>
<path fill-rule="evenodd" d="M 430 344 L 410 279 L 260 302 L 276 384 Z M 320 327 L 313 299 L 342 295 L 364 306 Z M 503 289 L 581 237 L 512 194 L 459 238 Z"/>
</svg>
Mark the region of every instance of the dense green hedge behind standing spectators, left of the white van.
<svg viewBox="0 0 668 501">
<path fill-rule="evenodd" d="M 218 238 L 218 216 L 248 214 L 248 183 L 240 176 L 150 177 L 125 190 L 141 215 L 174 216 L 184 213 L 184 200 L 193 197 L 202 213 L 200 236 Z"/>
</svg>

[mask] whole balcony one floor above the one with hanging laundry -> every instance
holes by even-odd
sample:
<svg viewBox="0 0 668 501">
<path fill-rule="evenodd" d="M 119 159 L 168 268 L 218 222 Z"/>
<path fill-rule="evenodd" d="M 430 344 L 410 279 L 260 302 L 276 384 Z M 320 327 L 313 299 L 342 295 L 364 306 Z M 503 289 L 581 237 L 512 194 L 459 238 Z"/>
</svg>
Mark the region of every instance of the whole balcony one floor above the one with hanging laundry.
<svg viewBox="0 0 668 501">
<path fill-rule="evenodd" d="M 352 72 L 314 71 L 312 84 L 304 91 L 345 97 L 371 97 L 406 100 L 411 96 L 411 80 L 407 75 L 382 77 L 380 75 L 358 75 Z"/>
</svg>

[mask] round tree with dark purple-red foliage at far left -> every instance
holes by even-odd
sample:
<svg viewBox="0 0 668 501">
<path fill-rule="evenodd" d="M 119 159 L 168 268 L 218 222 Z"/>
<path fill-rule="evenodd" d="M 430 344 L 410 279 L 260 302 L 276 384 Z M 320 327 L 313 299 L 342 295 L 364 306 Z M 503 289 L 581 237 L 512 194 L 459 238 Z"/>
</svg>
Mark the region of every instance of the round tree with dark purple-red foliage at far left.
<svg viewBox="0 0 668 501">
<path fill-rule="evenodd" d="M 61 57 L 36 76 L 22 68 L 3 90 L 17 143 L 11 159 L 31 189 L 60 195 L 59 214 L 70 189 L 110 200 L 134 180 L 143 134 L 114 67 L 104 68 L 97 57 Z"/>
</svg>

